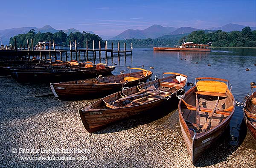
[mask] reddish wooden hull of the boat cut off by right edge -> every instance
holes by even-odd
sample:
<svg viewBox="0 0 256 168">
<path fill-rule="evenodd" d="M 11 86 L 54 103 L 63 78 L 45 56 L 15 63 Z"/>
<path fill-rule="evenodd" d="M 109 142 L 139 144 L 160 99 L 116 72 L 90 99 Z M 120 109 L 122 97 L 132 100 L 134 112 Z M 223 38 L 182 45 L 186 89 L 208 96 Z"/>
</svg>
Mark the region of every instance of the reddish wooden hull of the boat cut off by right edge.
<svg viewBox="0 0 256 168">
<path fill-rule="evenodd" d="M 256 92 L 253 93 L 253 95 L 250 95 L 246 101 L 244 106 L 244 121 L 246 123 L 247 128 L 249 129 L 250 133 L 252 134 L 253 138 L 256 140 L 256 122 L 253 120 L 250 120 L 248 115 L 253 114 L 256 117 L 256 105 L 252 104 L 252 98 L 256 97 Z"/>
</svg>

